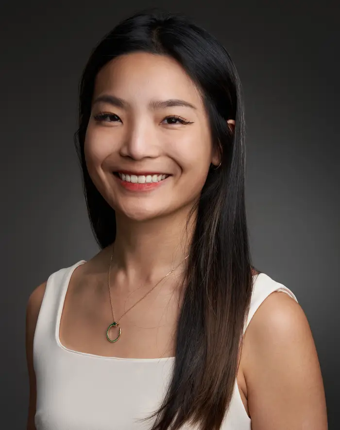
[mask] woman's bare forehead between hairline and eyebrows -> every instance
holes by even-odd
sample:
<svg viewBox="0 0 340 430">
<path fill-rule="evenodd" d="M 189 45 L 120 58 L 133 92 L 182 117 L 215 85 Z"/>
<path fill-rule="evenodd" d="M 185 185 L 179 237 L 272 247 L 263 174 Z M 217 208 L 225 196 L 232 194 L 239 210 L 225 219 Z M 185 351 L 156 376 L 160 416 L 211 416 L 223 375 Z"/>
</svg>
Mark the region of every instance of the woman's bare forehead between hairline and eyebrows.
<svg viewBox="0 0 340 430">
<path fill-rule="evenodd" d="M 109 61 L 97 74 L 94 95 L 113 93 L 133 100 L 179 98 L 202 105 L 197 86 L 182 66 L 166 55 L 134 52 Z"/>
</svg>

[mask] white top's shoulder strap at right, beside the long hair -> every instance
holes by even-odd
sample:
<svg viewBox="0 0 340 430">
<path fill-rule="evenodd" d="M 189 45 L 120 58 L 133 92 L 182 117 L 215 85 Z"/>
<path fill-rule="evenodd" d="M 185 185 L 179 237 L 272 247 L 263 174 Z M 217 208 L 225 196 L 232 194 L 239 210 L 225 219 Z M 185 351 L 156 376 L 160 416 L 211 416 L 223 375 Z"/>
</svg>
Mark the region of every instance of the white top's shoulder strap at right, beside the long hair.
<svg viewBox="0 0 340 430">
<path fill-rule="evenodd" d="M 266 275 L 263 272 L 261 272 L 259 275 L 255 275 L 250 309 L 246 324 L 243 329 L 243 334 L 246 331 L 251 319 L 253 318 L 253 315 L 255 314 L 261 303 L 269 296 L 269 294 L 274 291 L 285 292 L 296 302 L 298 302 L 295 294 L 285 285 L 274 281 L 270 276 Z"/>
</svg>

